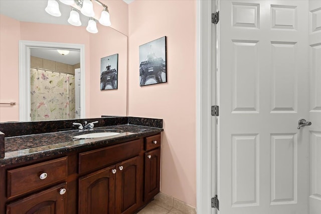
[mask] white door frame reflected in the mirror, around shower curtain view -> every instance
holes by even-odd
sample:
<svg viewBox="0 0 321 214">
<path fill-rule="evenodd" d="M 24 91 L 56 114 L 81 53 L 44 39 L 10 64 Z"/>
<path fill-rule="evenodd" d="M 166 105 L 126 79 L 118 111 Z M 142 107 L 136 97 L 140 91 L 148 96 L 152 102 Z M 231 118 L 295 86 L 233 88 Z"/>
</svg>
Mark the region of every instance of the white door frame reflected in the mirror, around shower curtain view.
<svg viewBox="0 0 321 214">
<path fill-rule="evenodd" d="M 31 121 L 30 113 L 30 49 L 65 49 L 80 50 L 80 117 L 85 118 L 86 95 L 85 95 L 85 45 L 70 43 L 53 43 L 39 41 L 19 41 L 19 121 Z"/>
</svg>

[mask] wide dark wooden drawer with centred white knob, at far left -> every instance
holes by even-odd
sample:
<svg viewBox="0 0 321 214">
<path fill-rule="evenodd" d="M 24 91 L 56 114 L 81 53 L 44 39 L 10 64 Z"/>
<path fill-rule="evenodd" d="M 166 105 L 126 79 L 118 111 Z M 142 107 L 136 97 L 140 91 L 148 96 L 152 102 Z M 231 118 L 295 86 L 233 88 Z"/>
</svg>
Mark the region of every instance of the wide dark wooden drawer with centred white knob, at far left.
<svg viewBox="0 0 321 214">
<path fill-rule="evenodd" d="M 67 177 L 67 157 L 7 171 L 8 198 L 48 186 Z"/>
</svg>

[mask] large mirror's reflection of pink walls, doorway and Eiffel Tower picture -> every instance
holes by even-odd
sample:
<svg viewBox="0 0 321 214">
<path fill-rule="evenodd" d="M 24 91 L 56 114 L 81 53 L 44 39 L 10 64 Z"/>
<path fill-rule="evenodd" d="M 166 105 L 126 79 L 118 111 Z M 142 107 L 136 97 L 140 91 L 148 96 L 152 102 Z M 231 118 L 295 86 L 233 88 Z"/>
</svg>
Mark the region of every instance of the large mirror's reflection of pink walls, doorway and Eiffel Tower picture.
<svg viewBox="0 0 321 214">
<path fill-rule="evenodd" d="M 96 118 L 101 115 L 126 116 L 127 36 L 125 34 L 111 27 L 102 26 L 98 22 L 98 33 L 91 34 L 86 31 L 88 20 L 83 15 L 80 16 L 83 25 L 72 26 L 67 22 L 71 7 L 60 2 L 62 16 L 59 18 L 45 12 L 47 1 L 2 0 L 0 4 L 0 45 L 1 55 L 5 56 L 0 59 L 2 68 L 0 81 L 2 89 L 8 89 L 0 90 L 0 101 L 17 103 L 14 106 L 0 105 L 0 122 Z M 101 10 L 100 7 L 95 7 L 94 10 Z M 117 13 L 117 10 L 113 8 L 114 13 Z M 101 11 L 97 12 L 97 16 L 100 16 L 100 13 Z M 119 14 L 121 13 L 120 11 Z M 112 19 L 112 15 L 110 16 Z M 95 17 L 95 19 L 99 18 Z M 119 29 L 119 26 L 117 27 Z M 60 46 L 50 46 L 50 49 L 30 47 L 30 53 L 28 50 L 20 53 L 20 41 L 57 43 Z M 84 46 L 84 53 L 81 54 L 81 52 L 80 57 L 78 55 L 77 63 L 47 57 L 49 52 L 57 52 L 58 49 L 68 50 L 61 44 Z M 79 54 L 77 49 L 69 51 L 68 55 L 60 54 L 60 57 L 67 59 L 73 53 Z M 100 90 L 101 58 L 114 54 L 118 54 L 118 87 L 116 90 Z M 21 84 L 22 81 L 20 81 L 22 59 L 28 59 L 28 57 L 29 61 L 25 64 L 29 64 L 30 67 L 25 68 L 23 72 L 30 74 L 30 78 L 27 78 L 30 80 L 29 87 L 26 86 L 28 84 Z M 63 71 L 61 67 L 66 67 L 67 71 Z M 77 72 L 84 77 L 82 85 L 77 85 Z M 23 76 L 25 74 L 23 73 Z M 44 84 L 42 86 L 40 86 L 41 81 Z M 69 86 L 74 85 L 74 88 L 67 87 L 67 83 Z M 56 91 L 58 88 L 60 90 Z M 29 90 L 30 98 L 21 96 L 19 89 Z M 32 100 L 31 97 L 35 96 L 37 100 Z M 29 108 L 29 105 L 26 106 L 27 102 L 21 102 L 25 97 L 30 102 L 29 112 L 25 110 Z M 60 98 L 64 99 L 60 100 Z M 54 101 L 60 102 L 59 105 Z M 22 113 L 27 116 L 22 117 Z"/>
</svg>

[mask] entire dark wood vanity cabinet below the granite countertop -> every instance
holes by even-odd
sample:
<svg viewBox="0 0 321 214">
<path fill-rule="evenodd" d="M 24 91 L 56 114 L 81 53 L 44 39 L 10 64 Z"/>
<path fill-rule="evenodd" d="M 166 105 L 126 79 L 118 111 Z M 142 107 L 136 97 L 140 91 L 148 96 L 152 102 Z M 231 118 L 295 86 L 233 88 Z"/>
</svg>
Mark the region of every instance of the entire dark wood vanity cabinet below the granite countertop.
<svg viewBox="0 0 321 214">
<path fill-rule="evenodd" d="M 2 166 L 0 214 L 135 213 L 159 192 L 160 144 L 157 134 L 39 163 Z"/>
</svg>

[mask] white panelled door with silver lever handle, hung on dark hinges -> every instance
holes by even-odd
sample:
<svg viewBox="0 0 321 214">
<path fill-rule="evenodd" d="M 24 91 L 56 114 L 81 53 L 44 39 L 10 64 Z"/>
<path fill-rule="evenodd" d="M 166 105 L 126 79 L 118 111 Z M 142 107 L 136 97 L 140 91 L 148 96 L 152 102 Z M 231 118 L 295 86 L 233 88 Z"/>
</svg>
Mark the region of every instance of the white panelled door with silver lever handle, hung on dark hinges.
<svg viewBox="0 0 321 214">
<path fill-rule="evenodd" d="M 219 213 L 308 213 L 313 161 L 310 201 L 320 201 L 321 120 L 309 114 L 308 3 L 219 1 Z M 320 30 L 320 10 L 315 14 Z M 311 79 L 320 83 L 320 41 L 313 44 Z M 321 86 L 311 87 L 320 118 Z M 302 118 L 312 126 L 297 129 Z M 318 152 L 310 161 L 309 138 L 311 152 Z M 321 213 L 316 205 L 310 211 Z"/>
</svg>

